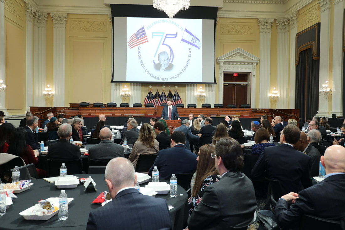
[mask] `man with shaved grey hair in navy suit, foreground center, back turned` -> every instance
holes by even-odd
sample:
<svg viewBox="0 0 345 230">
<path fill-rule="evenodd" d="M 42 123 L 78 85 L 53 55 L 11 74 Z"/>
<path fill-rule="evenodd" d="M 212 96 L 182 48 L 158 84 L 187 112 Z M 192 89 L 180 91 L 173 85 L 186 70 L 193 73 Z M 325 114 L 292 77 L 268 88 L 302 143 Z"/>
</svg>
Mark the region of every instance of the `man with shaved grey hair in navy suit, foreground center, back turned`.
<svg viewBox="0 0 345 230">
<path fill-rule="evenodd" d="M 87 230 L 171 229 L 166 200 L 143 195 L 134 188 L 137 175 L 128 159 L 112 159 L 104 176 L 112 201 L 90 212 Z"/>
</svg>

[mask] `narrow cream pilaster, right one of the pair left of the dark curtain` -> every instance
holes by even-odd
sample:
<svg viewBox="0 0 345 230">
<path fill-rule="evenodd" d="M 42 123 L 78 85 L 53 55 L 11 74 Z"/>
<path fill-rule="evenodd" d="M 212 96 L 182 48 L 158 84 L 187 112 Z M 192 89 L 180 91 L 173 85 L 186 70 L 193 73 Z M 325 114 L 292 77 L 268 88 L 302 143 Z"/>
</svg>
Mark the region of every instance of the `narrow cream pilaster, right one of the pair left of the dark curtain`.
<svg viewBox="0 0 345 230">
<path fill-rule="evenodd" d="M 298 13 L 294 11 L 287 16 L 290 23 L 290 82 L 289 82 L 289 107 L 290 109 L 295 108 L 295 97 L 296 97 L 296 33 L 297 33 L 297 22 Z"/>
</svg>

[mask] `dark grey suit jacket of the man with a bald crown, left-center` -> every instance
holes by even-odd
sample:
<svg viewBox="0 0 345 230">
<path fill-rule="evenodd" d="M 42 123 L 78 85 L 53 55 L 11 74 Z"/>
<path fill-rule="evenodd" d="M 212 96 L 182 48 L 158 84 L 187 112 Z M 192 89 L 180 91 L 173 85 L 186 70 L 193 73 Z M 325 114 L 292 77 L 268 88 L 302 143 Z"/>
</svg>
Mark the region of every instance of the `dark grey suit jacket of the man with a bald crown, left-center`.
<svg viewBox="0 0 345 230">
<path fill-rule="evenodd" d="M 111 142 L 110 140 L 103 140 L 101 143 L 89 148 L 89 162 L 91 160 L 111 160 L 115 157 L 124 157 L 124 147 Z"/>
</svg>

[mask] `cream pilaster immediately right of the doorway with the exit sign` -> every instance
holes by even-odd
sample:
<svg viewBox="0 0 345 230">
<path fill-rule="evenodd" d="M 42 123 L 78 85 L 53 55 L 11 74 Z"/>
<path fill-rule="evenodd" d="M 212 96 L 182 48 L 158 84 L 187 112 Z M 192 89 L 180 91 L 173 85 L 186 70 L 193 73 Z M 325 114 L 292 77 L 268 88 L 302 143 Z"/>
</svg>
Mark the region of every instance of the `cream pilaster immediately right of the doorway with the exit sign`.
<svg viewBox="0 0 345 230">
<path fill-rule="evenodd" d="M 271 26 L 273 18 L 259 18 L 260 28 L 260 80 L 259 108 L 269 108 Z"/>
</svg>

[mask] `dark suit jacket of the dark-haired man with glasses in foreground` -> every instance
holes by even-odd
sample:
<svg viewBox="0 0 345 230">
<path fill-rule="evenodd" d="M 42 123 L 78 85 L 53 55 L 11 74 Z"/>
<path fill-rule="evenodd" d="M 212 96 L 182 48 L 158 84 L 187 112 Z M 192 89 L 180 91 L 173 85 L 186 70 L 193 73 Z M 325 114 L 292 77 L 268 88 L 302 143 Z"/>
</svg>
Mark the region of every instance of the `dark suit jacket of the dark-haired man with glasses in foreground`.
<svg viewBox="0 0 345 230">
<path fill-rule="evenodd" d="M 205 188 L 203 199 L 188 218 L 188 228 L 223 230 L 249 226 L 254 221 L 255 208 L 252 181 L 243 173 L 227 172 Z"/>
</svg>

